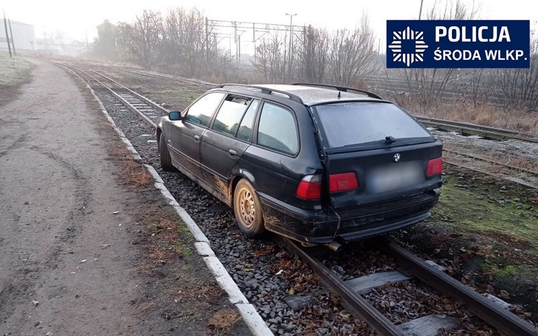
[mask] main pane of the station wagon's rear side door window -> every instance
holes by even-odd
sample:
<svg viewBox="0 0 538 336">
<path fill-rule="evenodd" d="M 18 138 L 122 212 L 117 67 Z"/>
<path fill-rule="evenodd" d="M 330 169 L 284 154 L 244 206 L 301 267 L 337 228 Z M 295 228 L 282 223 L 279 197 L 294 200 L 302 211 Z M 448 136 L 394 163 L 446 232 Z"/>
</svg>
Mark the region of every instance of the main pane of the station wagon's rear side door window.
<svg viewBox="0 0 538 336">
<path fill-rule="evenodd" d="M 251 101 L 252 98 L 228 95 L 217 112 L 213 129 L 235 137 L 241 118 Z"/>
</svg>

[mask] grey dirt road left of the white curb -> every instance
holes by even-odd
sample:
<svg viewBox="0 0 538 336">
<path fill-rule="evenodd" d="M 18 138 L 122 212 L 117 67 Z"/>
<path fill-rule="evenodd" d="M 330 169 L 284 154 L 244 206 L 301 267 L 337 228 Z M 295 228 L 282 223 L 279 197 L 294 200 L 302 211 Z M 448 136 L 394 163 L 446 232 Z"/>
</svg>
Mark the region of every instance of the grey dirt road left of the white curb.
<svg viewBox="0 0 538 336">
<path fill-rule="evenodd" d="M 207 319 L 230 308 L 221 296 L 195 318 L 163 318 L 171 304 L 188 309 L 166 295 L 174 278 L 212 278 L 197 256 L 164 275 L 141 272 L 146 247 L 135 243 L 146 239 L 147 195 L 118 181 L 109 149 L 121 142 L 88 91 L 59 67 L 32 62 L 31 83 L 0 108 L 0 334 L 212 333 Z M 182 262 L 193 275 L 174 274 Z"/>
</svg>

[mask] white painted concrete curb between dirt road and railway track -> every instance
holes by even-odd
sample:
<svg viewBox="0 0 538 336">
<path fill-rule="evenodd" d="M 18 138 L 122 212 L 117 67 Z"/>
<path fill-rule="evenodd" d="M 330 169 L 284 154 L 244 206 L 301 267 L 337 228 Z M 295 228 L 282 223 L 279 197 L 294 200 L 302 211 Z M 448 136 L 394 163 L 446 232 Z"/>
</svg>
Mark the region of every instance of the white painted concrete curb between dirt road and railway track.
<svg viewBox="0 0 538 336">
<path fill-rule="evenodd" d="M 129 139 L 125 137 L 125 134 L 122 132 L 122 130 L 120 130 L 116 126 L 116 123 L 114 123 L 114 120 L 112 120 L 107 110 L 104 108 L 101 99 L 97 97 L 95 91 L 90 87 L 90 85 L 88 85 L 88 83 L 86 83 L 86 81 L 82 79 L 81 76 L 79 76 L 73 70 L 67 67 L 64 68 L 75 74 L 75 76 L 79 77 L 80 80 L 84 84 L 86 84 L 86 87 L 90 90 L 91 95 L 94 96 L 94 99 L 99 103 L 101 111 L 103 112 L 105 117 L 107 117 L 108 121 L 112 125 L 112 128 L 114 128 L 114 130 L 118 133 L 119 137 L 124 142 L 127 149 L 129 149 L 129 151 L 132 153 L 133 160 L 142 163 L 142 158 L 140 157 L 136 149 L 134 149 L 133 145 L 131 144 L 131 141 L 129 141 Z M 189 228 L 190 232 L 193 234 L 194 239 L 196 240 L 196 242 L 194 243 L 196 251 L 199 255 L 202 256 L 202 259 L 206 262 L 207 267 L 211 271 L 211 274 L 213 274 L 213 276 L 215 277 L 215 280 L 217 281 L 218 285 L 224 291 L 226 291 L 230 302 L 236 306 L 237 310 L 239 311 L 239 314 L 241 315 L 241 318 L 243 319 L 243 322 L 246 324 L 247 327 L 249 327 L 249 330 L 252 332 L 252 334 L 259 336 L 273 336 L 273 332 L 271 332 L 271 330 L 267 327 L 263 318 L 261 318 L 260 314 L 256 311 L 256 308 L 254 308 L 254 306 L 249 303 L 249 301 L 243 295 L 239 287 L 237 287 L 235 281 L 233 281 L 228 271 L 226 271 L 226 268 L 224 268 L 224 265 L 215 256 L 215 252 L 209 246 L 209 240 L 207 239 L 206 235 L 203 234 L 202 230 L 200 230 L 200 227 L 196 225 L 195 221 L 192 218 L 190 218 L 187 211 L 183 209 L 181 205 L 179 205 L 178 201 L 175 200 L 174 196 L 172 196 L 168 189 L 166 189 L 162 178 L 157 173 L 157 170 L 155 170 L 150 165 L 144 165 L 144 167 L 146 167 L 147 171 L 149 171 L 150 174 L 153 176 L 153 180 L 155 181 L 155 188 L 161 191 L 162 196 L 165 197 L 169 205 L 172 205 L 175 212 L 178 213 L 179 217 L 183 220 L 183 222 Z"/>
</svg>

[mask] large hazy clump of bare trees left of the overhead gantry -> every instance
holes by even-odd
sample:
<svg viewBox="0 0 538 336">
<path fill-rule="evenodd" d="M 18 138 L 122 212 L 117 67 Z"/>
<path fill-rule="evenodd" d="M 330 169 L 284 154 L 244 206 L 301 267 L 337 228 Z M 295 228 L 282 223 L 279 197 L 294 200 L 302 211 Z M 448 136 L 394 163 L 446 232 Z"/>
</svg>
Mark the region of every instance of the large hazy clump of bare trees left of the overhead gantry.
<svg viewBox="0 0 538 336">
<path fill-rule="evenodd" d="M 164 17 L 144 11 L 134 23 L 118 24 L 116 45 L 146 68 L 167 66 L 189 77 L 221 73 L 230 65 L 213 27 L 206 30 L 206 18 L 197 9 L 176 8 Z"/>
</svg>

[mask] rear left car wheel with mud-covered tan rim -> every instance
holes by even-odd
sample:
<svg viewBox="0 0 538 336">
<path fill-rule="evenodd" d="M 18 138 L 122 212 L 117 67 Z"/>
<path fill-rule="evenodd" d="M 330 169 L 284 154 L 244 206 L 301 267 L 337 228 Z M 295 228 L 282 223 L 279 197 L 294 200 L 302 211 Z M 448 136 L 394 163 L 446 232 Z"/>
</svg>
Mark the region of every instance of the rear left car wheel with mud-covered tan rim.
<svg viewBox="0 0 538 336">
<path fill-rule="evenodd" d="M 266 230 L 261 203 L 252 184 L 244 178 L 240 180 L 233 192 L 233 212 L 237 225 L 247 237 L 261 237 Z"/>
</svg>

